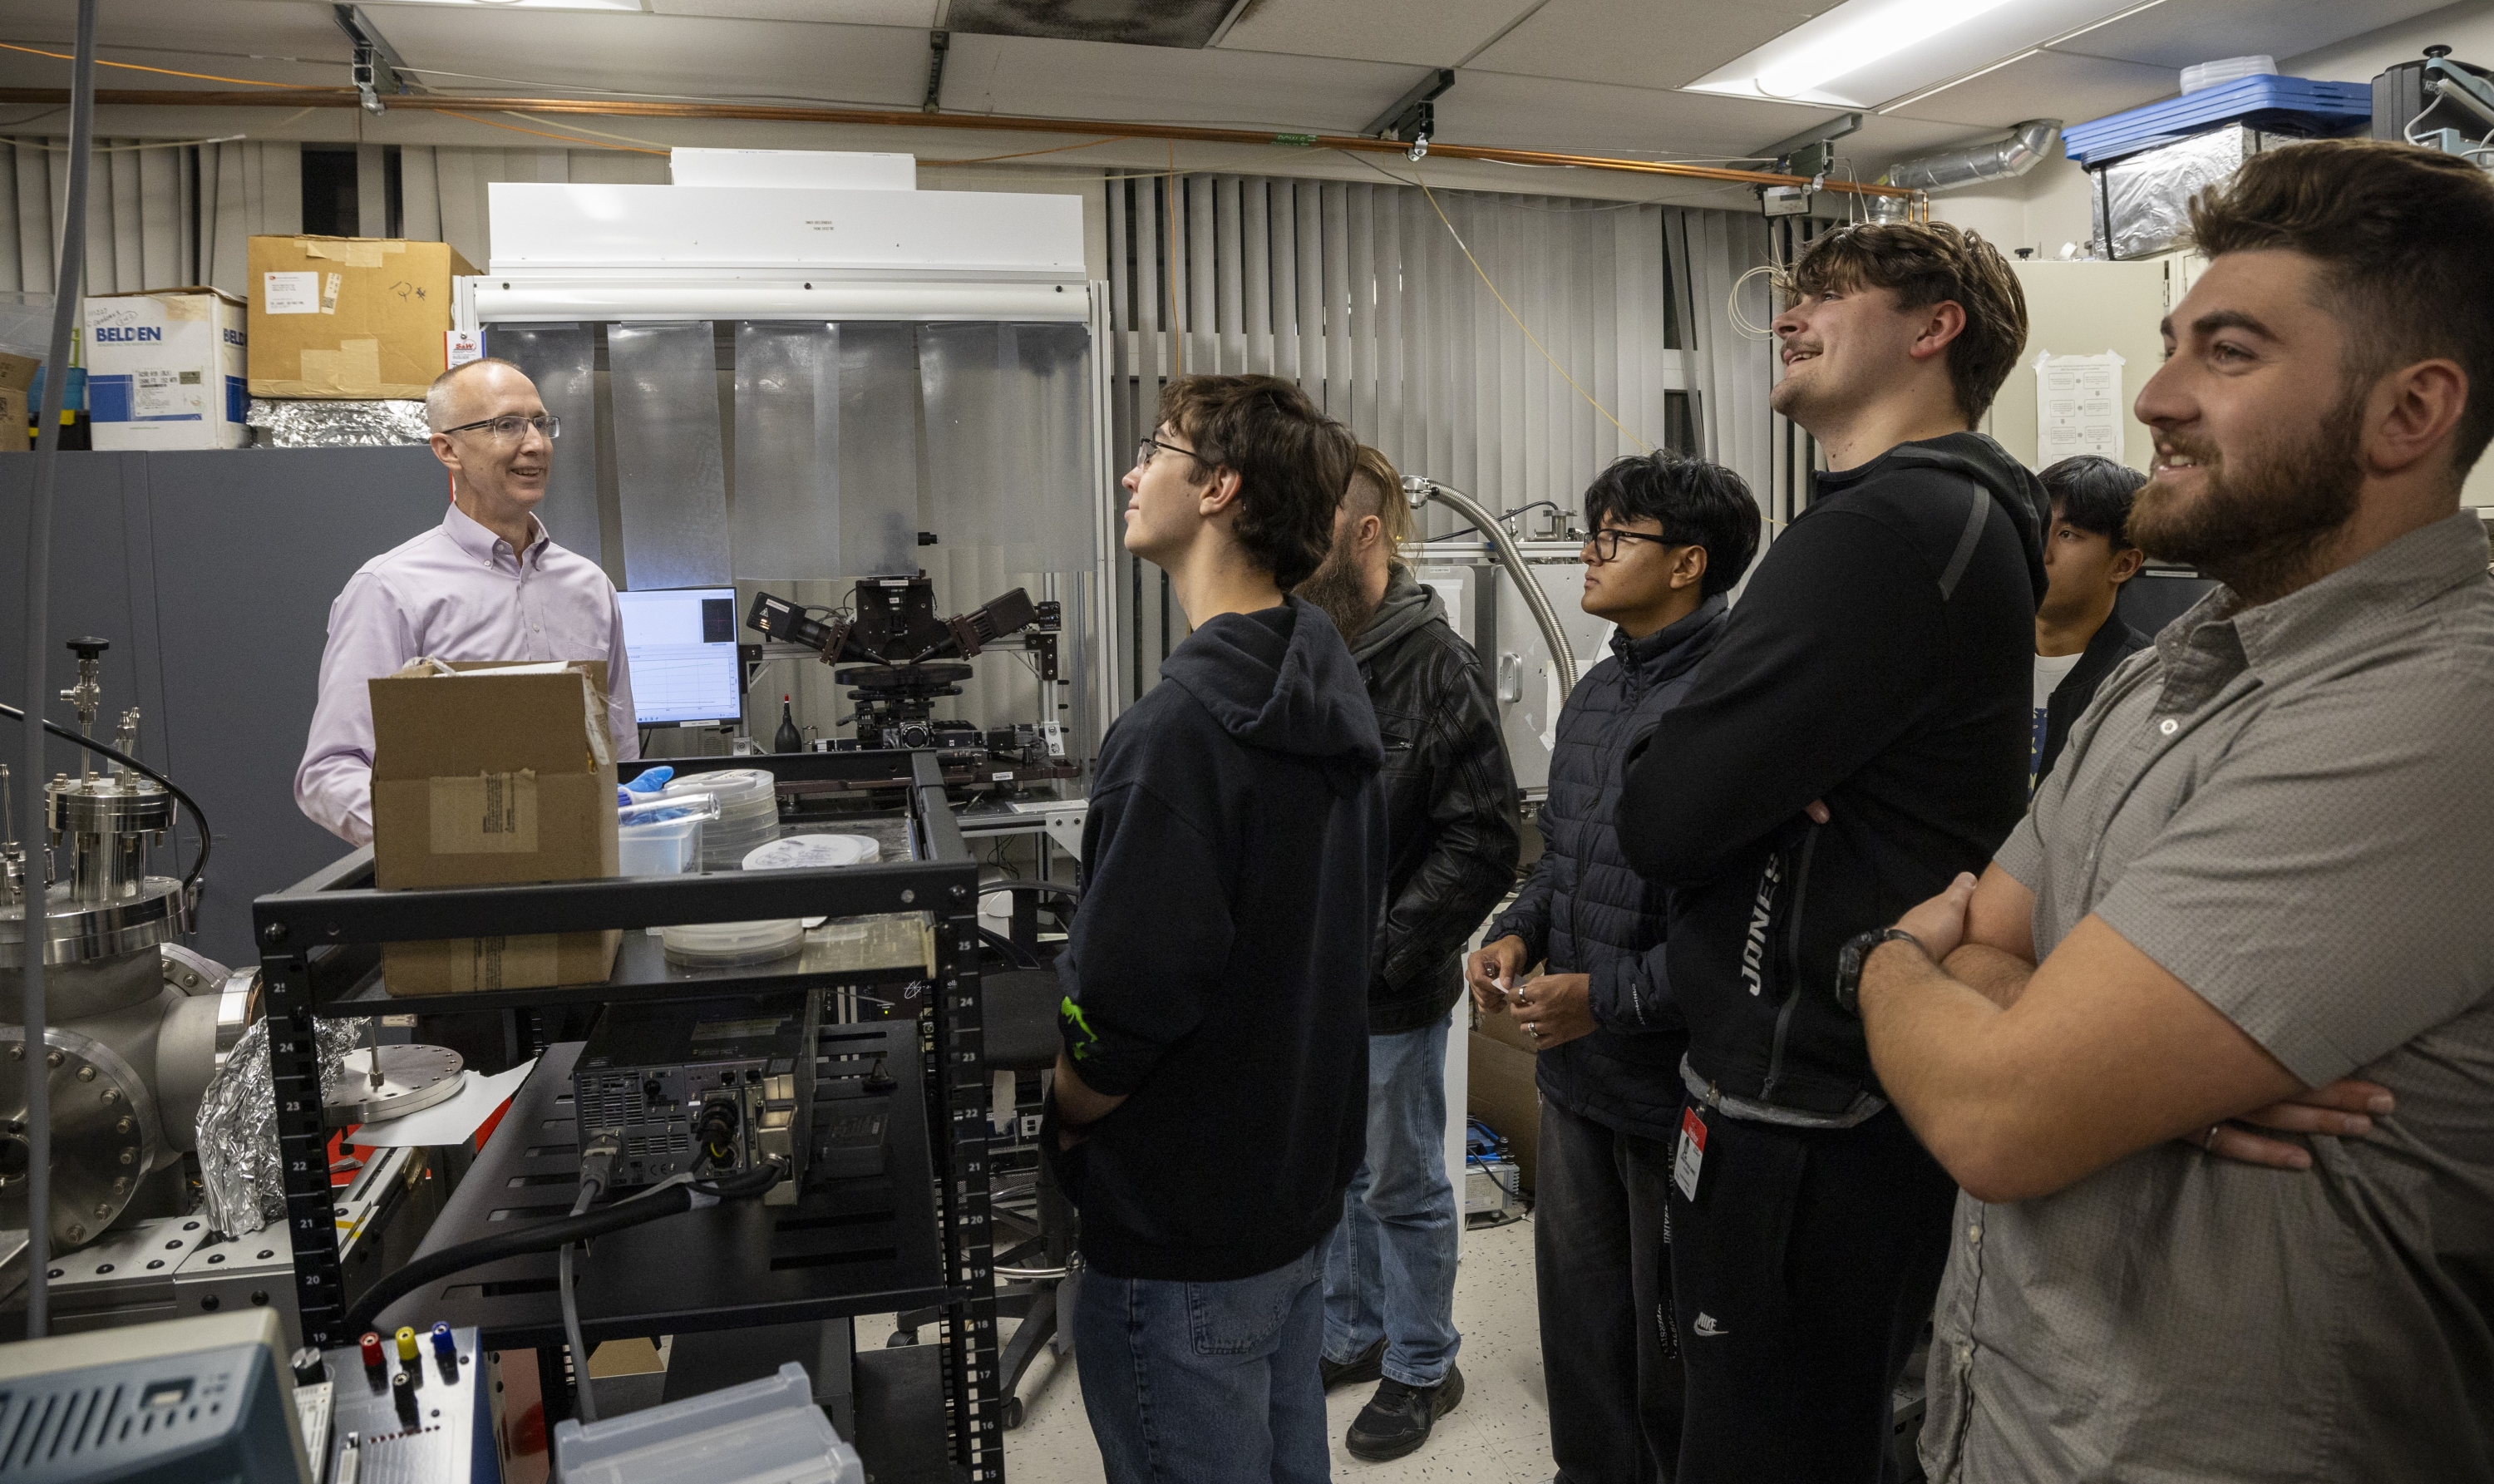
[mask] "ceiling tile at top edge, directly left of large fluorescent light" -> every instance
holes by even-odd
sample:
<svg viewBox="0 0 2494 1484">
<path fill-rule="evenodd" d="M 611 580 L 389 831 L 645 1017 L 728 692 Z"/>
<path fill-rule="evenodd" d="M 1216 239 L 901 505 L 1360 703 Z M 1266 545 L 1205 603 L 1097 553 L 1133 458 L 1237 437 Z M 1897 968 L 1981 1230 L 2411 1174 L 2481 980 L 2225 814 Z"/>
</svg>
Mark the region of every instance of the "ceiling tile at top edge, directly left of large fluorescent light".
<svg viewBox="0 0 2494 1484">
<path fill-rule="evenodd" d="M 1471 60 L 1486 72 L 1681 87 L 1811 17 L 1811 2 L 1549 0 Z M 1823 10 L 1826 2 L 1818 0 Z"/>
</svg>

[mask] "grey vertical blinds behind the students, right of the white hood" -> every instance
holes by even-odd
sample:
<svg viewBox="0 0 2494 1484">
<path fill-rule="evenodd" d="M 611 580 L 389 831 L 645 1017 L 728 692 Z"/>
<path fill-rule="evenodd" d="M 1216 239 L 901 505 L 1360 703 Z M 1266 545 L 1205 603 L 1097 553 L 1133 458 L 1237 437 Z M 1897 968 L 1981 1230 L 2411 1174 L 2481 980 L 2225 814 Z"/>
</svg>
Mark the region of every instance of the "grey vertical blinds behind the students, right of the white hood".
<svg viewBox="0 0 2494 1484">
<path fill-rule="evenodd" d="M 1726 312 L 1733 279 L 1766 262 L 1756 217 L 1479 192 L 1432 205 L 1404 185 L 1252 175 L 1105 190 L 1120 461 L 1172 374 L 1262 372 L 1404 474 L 1494 511 L 1574 511 L 1611 459 L 1681 441 L 1768 499 L 1773 359 Z M 1432 506 L 1427 531 L 1452 526 Z M 1120 561 L 1142 688 L 1185 619 L 1157 574 Z"/>
</svg>

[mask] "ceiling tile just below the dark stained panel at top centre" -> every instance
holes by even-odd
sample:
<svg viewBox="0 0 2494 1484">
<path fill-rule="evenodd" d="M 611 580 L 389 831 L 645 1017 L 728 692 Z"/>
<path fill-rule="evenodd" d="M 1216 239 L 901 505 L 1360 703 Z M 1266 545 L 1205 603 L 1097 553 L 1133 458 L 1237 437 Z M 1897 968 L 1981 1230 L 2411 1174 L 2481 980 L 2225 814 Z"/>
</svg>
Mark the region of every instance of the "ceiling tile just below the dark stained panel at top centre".
<svg viewBox="0 0 2494 1484">
<path fill-rule="evenodd" d="M 955 35 L 945 110 L 1347 135 L 1422 72 L 1389 62 Z"/>
</svg>

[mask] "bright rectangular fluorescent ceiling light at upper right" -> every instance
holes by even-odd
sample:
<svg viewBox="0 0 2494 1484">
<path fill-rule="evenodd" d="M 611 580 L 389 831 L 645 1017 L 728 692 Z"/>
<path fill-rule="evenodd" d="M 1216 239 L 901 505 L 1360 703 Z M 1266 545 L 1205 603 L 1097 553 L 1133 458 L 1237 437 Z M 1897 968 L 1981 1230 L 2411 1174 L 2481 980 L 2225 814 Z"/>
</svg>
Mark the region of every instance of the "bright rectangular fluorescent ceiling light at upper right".
<svg viewBox="0 0 2494 1484">
<path fill-rule="evenodd" d="M 2137 0 L 1846 0 L 1688 90 L 1878 107 L 2137 7 Z"/>
</svg>

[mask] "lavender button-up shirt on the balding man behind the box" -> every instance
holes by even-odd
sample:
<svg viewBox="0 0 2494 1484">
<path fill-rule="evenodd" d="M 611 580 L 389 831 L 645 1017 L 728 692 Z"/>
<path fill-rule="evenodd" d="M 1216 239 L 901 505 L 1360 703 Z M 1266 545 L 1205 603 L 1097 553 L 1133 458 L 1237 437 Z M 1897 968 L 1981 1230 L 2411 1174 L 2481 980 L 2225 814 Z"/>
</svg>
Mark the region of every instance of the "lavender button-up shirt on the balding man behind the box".
<svg viewBox="0 0 2494 1484">
<path fill-rule="evenodd" d="M 594 561 L 529 516 L 526 556 L 456 504 L 441 524 L 367 561 L 329 604 L 319 708 L 294 771 L 294 803 L 349 846 L 372 843 L 372 696 L 364 681 L 419 656 L 444 661 L 606 661 L 606 731 L 616 761 L 641 756 L 624 606 Z"/>
</svg>

